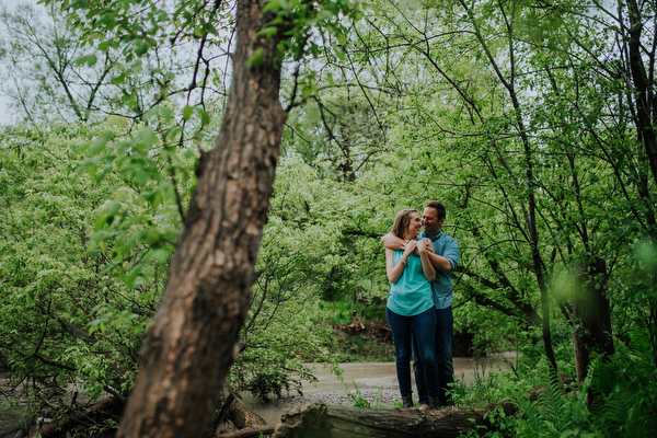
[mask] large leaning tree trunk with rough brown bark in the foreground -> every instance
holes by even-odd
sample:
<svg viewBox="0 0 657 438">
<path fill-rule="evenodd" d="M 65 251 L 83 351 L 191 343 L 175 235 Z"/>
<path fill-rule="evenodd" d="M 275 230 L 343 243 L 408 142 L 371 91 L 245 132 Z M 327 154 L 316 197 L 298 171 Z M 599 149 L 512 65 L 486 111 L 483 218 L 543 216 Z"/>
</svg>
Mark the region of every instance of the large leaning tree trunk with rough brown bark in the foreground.
<svg viewBox="0 0 657 438">
<path fill-rule="evenodd" d="M 258 0 L 238 3 L 230 96 L 215 148 L 199 163 L 162 304 L 147 334 L 118 437 L 201 437 L 238 351 L 274 183 L 285 112 L 277 37 Z M 269 18 L 270 19 L 270 18 Z M 256 49 L 264 61 L 246 66 Z"/>
</svg>

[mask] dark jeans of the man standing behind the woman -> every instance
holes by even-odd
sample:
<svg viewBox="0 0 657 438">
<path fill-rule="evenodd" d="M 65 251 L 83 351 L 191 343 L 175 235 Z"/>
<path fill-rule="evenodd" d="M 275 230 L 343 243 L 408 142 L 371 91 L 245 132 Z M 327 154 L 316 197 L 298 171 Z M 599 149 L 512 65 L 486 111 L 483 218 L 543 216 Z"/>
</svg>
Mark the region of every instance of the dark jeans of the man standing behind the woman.
<svg viewBox="0 0 657 438">
<path fill-rule="evenodd" d="M 451 384 L 454 381 L 454 366 L 452 351 L 454 344 L 454 316 L 452 308 L 436 309 L 436 360 L 438 361 L 438 380 L 440 385 L 440 406 L 453 405 L 451 400 Z M 415 384 L 419 395 L 419 403 L 428 404 L 429 395 L 424 380 L 424 367 L 422 360 L 415 354 L 417 346 L 413 338 L 413 370 L 415 371 Z"/>
</svg>

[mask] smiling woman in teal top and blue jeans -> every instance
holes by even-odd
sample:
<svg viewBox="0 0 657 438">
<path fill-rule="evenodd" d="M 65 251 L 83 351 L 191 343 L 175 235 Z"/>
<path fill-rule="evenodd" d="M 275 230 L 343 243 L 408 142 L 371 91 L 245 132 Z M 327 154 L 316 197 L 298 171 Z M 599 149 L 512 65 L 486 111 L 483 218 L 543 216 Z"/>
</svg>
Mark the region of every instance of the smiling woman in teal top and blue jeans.
<svg viewBox="0 0 657 438">
<path fill-rule="evenodd" d="M 430 281 L 436 270 L 429 262 L 428 240 L 417 241 L 422 220 L 417 210 L 400 211 L 392 226 L 392 234 L 406 241 L 404 251 L 385 249 L 385 268 L 391 283 L 385 314 L 396 357 L 396 373 L 404 407 L 413 407 L 411 388 L 412 336 L 417 339 L 419 360 L 424 366 L 429 407 L 437 410 L 438 366 L 436 362 L 436 312 Z"/>
</svg>

